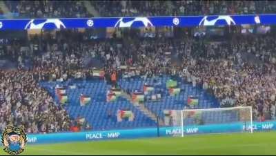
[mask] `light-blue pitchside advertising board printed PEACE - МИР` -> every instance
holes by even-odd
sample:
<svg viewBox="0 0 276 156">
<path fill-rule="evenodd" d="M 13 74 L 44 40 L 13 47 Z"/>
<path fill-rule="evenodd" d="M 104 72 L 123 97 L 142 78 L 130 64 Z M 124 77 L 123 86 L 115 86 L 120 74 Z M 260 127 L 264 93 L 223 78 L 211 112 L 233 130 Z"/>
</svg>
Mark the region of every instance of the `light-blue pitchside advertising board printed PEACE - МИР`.
<svg viewBox="0 0 276 156">
<path fill-rule="evenodd" d="M 249 129 L 246 126 L 246 129 Z M 200 133 L 233 133 L 241 132 L 245 129 L 243 123 L 233 124 L 213 124 L 204 126 L 188 126 L 184 129 L 185 135 Z M 276 130 L 276 121 L 254 122 L 253 129 L 255 131 Z M 159 128 L 161 137 L 181 135 L 180 127 L 163 127 Z M 52 144 L 61 142 L 83 142 L 90 140 L 105 139 L 134 139 L 141 137 L 157 137 L 157 128 L 139 128 L 129 130 L 103 130 L 103 131 L 87 131 L 80 133 L 51 133 L 28 135 L 28 144 Z"/>
</svg>

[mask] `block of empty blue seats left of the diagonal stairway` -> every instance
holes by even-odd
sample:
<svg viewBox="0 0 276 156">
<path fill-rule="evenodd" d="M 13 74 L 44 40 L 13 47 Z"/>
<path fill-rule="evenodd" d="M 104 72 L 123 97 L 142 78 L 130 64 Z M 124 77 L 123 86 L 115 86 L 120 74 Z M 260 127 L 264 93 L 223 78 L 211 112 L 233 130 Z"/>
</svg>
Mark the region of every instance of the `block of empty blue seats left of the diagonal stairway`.
<svg viewBox="0 0 276 156">
<path fill-rule="evenodd" d="M 130 101 L 119 97 L 116 101 L 106 101 L 106 92 L 110 90 L 104 81 L 73 81 L 79 87 L 76 89 L 68 89 L 68 106 L 66 110 L 68 114 L 77 119 L 77 117 L 84 117 L 87 122 L 92 126 L 93 130 L 108 130 L 119 128 L 137 128 L 145 126 L 155 126 L 155 122 L 149 117 L 146 117 L 135 106 L 130 104 Z M 55 97 L 56 82 L 43 83 L 41 86 L 49 88 L 51 95 Z M 60 83 L 59 83 L 60 84 Z M 50 89 L 52 88 L 52 89 Z M 80 105 L 79 95 L 90 95 L 92 101 L 87 106 Z M 58 103 L 58 100 L 57 100 Z M 117 122 L 117 110 L 127 109 L 131 110 L 135 115 L 134 121 L 121 121 Z M 111 117 L 108 117 L 108 111 Z"/>
</svg>

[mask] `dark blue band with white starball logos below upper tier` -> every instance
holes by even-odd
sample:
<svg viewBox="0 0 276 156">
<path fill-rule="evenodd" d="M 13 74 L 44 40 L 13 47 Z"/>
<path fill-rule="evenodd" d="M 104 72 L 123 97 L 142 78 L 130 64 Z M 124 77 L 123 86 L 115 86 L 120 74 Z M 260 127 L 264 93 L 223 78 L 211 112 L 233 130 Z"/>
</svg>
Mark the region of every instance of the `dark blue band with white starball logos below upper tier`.
<svg viewBox="0 0 276 156">
<path fill-rule="evenodd" d="M 61 19 L 0 19 L 0 30 L 56 28 L 123 28 L 145 26 L 230 26 L 242 24 L 276 24 L 276 14 L 212 15 L 175 17 L 99 17 Z"/>
</svg>

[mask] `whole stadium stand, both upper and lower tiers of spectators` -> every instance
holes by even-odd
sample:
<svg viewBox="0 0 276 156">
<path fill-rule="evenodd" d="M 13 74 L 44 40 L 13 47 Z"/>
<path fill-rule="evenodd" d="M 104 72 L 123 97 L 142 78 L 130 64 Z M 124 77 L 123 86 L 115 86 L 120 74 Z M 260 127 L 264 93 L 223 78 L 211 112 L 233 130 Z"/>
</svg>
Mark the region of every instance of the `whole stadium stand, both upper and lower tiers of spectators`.
<svg viewBox="0 0 276 156">
<path fill-rule="evenodd" d="M 266 5 L 268 1 L 89 2 L 105 17 L 275 10 L 275 5 Z M 21 18 L 92 17 L 83 1 L 5 3 Z M 61 7 L 64 3 L 66 10 Z M 10 35 L 0 39 L 0 128 L 12 123 L 23 124 L 28 133 L 55 133 L 156 126 L 164 110 L 188 108 L 189 96 L 199 98 L 197 108 L 253 106 L 254 120 L 275 119 L 275 28 L 256 26 L 254 33 L 228 28 L 231 32 L 224 37 L 204 35 L 208 30 L 202 33 L 200 28 L 175 28 L 171 33 L 172 28 L 144 28 L 144 33 L 115 29 L 108 37 L 93 29 L 43 31 L 33 36 L 20 32 L 21 37 L 0 32 L 2 37 Z M 185 35 L 179 36 L 180 31 Z M 95 77 L 95 68 L 105 75 Z M 179 94 L 170 95 L 166 88 L 170 79 L 177 81 Z M 67 88 L 66 104 L 56 95 L 57 84 Z M 77 88 L 70 88 L 72 84 Z M 144 92 L 145 85 L 154 89 L 137 105 L 132 94 Z M 109 102 L 106 92 L 112 87 L 120 88 L 124 96 Z M 81 106 L 81 94 L 91 96 L 87 106 Z M 133 121 L 118 122 L 118 110 L 131 110 Z M 226 116 L 218 120 L 235 120 Z"/>
</svg>

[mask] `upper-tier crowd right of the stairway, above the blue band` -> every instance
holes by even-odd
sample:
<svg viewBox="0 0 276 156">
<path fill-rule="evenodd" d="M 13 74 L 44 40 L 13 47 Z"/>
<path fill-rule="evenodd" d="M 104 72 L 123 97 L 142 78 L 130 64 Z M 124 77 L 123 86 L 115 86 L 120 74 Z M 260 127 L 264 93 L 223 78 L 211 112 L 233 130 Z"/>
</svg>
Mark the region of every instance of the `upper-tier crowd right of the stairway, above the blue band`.
<svg viewBox="0 0 276 156">
<path fill-rule="evenodd" d="M 104 17 L 269 14 L 276 10 L 275 1 L 91 1 L 91 3 Z"/>
</svg>

